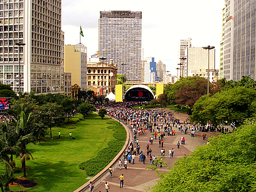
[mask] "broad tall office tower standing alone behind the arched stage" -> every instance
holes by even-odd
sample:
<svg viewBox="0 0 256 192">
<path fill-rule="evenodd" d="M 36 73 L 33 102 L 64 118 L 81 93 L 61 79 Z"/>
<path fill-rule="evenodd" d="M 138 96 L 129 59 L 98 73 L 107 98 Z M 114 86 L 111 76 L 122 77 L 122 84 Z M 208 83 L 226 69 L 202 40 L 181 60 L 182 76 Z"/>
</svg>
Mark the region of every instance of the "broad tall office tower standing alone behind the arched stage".
<svg viewBox="0 0 256 192">
<path fill-rule="evenodd" d="M 117 64 L 117 73 L 129 81 L 141 81 L 141 11 L 100 11 L 98 24 L 100 57 Z"/>
</svg>

